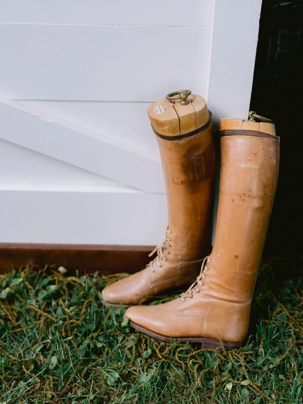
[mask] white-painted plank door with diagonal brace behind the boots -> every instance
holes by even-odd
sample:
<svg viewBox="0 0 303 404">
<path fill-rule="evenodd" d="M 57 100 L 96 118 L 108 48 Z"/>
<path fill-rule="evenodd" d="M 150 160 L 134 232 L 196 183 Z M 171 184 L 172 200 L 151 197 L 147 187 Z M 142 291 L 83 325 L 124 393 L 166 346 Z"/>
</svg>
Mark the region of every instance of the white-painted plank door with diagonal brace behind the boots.
<svg viewBox="0 0 303 404">
<path fill-rule="evenodd" d="M 160 243 L 148 106 L 246 118 L 261 0 L 0 0 L 0 242 Z"/>
</svg>

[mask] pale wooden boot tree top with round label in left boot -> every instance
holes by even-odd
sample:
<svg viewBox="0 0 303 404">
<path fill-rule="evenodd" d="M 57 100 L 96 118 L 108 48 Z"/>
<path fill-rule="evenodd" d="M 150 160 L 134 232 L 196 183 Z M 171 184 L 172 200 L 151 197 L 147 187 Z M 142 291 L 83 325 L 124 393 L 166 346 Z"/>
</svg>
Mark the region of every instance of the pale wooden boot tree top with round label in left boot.
<svg viewBox="0 0 303 404">
<path fill-rule="evenodd" d="M 178 136 L 203 126 L 209 119 L 209 111 L 203 97 L 191 94 L 190 102 L 181 105 L 178 100 L 166 98 L 157 101 L 148 108 L 151 125 L 156 132 L 165 136 Z"/>
</svg>

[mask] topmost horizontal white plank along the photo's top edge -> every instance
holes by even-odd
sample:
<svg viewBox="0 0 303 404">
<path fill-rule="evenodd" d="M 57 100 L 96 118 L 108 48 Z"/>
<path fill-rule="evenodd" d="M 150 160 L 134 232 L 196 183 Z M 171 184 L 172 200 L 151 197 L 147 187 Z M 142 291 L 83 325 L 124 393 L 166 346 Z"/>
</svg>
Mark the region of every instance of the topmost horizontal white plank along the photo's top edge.
<svg viewBox="0 0 303 404">
<path fill-rule="evenodd" d="M 203 26 L 214 0 L 0 0 L 0 22 Z"/>
</svg>

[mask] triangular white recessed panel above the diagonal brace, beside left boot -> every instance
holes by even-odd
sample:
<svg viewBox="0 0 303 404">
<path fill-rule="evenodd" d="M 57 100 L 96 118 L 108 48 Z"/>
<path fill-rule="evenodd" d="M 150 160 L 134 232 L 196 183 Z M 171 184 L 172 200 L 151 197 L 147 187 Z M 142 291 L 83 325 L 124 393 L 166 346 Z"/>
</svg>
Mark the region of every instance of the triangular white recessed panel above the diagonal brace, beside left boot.
<svg viewBox="0 0 303 404">
<path fill-rule="evenodd" d="M 106 135 L 146 153 L 160 162 L 159 148 L 151 130 L 147 109 L 150 103 L 106 103 L 97 101 L 19 102 L 43 114 L 51 114 L 93 131 L 101 139 Z"/>
</svg>

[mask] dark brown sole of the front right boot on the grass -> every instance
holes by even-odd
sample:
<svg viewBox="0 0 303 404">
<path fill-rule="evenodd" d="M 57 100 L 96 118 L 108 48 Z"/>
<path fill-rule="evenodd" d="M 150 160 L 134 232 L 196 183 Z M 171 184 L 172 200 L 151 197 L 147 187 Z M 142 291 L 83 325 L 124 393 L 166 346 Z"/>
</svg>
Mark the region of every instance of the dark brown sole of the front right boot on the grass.
<svg viewBox="0 0 303 404">
<path fill-rule="evenodd" d="M 126 319 L 126 317 L 124 318 Z M 165 337 L 164 335 L 161 334 L 157 334 L 156 332 L 153 331 L 149 331 L 146 328 L 143 328 L 141 326 L 139 326 L 138 324 L 133 323 L 132 321 L 129 321 L 129 325 L 133 328 L 135 328 L 136 330 L 143 332 L 144 334 L 149 335 L 150 337 L 156 338 L 156 339 L 160 339 L 161 341 L 165 341 L 165 342 L 182 342 L 182 343 L 186 343 L 186 342 L 199 342 L 202 344 L 202 348 L 207 348 L 207 349 L 217 349 L 217 348 L 221 348 L 221 343 L 220 341 L 216 340 L 216 339 L 211 339 L 211 338 L 200 338 L 200 337 L 184 337 L 184 338 L 173 338 L 173 337 Z M 242 342 L 225 342 L 222 341 L 224 348 L 226 350 L 232 350 L 235 348 L 239 348 L 240 346 L 242 346 Z"/>
</svg>

